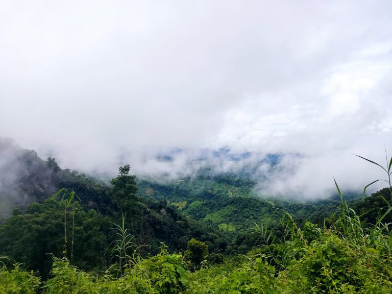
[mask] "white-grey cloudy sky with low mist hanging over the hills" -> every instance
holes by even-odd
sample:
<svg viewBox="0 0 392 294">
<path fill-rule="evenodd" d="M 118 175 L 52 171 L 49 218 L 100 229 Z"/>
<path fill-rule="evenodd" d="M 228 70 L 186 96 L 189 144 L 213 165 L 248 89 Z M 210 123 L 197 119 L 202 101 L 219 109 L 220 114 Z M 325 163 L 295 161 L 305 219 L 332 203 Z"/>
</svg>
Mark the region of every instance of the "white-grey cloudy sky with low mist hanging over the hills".
<svg viewBox="0 0 392 294">
<path fill-rule="evenodd" d="M 315 197 L 392 155 L 390 1 L 0 0 L 0 137 L 115 175 L 172 148 L 286 156 L 262 189 Z M 234 165 L 226 168 L 236 167 Z M 385 177 L 384 177 L 385 178 Z"/>
</svg>

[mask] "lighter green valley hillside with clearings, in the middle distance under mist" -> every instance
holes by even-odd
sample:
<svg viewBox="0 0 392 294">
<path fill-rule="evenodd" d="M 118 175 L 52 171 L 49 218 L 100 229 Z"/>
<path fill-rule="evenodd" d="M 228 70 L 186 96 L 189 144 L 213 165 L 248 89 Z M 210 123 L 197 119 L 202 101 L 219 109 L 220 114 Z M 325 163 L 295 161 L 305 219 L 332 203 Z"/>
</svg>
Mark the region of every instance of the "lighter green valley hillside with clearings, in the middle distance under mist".
<svg viewBox="0 0 392 294">
<path fill-rule="evenodd" d="M 230 236 L 229 254 L 244 254 L 255 240 L 251 231 L 255 223 L 268 224 L 275 233 L 282 233 L 280 219 L 284 212 L 305 222 L 323 225 L 324 219 L 339 213 L 336 193 L 325 200 L 282 200 L 279 197 L 259 197 L 255 182 L 243 173 L 214 173 L 201 169 L 194 177 L 175 181 L 138 180 L 139 193 L 144 198 L 165 199 L 185 216 L 217 227 Z M 353 204 L 361 199 L 359 192 L 348 192 L 345 199 Z"/>
</svg>

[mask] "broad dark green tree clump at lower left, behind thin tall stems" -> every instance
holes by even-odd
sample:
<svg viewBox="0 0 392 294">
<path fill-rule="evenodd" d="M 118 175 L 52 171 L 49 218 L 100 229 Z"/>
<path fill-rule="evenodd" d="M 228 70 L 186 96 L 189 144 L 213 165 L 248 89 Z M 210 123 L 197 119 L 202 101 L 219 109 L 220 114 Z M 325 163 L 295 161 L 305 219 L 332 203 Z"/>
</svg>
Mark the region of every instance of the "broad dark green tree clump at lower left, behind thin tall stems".
<svg viewBox="0 0 392 294">
<path fill-rule="evenodd" d="M 64 210 L 60 208 L 55 200 L 46 200 L 28 205 L 23 214 L 15 211 L 0 226 L 0 256 L 24 263 L 46 278 L 52 267 L 52 256 L 63 256 Z M 109 218 L 94 210 L 86 212 L 78 203 L 74 208 L 73 212 L 66 211 L 66 230 L 72 230 L 75 217 L 75 265 L 89 271 L 105 269 Z"/>
</svg>

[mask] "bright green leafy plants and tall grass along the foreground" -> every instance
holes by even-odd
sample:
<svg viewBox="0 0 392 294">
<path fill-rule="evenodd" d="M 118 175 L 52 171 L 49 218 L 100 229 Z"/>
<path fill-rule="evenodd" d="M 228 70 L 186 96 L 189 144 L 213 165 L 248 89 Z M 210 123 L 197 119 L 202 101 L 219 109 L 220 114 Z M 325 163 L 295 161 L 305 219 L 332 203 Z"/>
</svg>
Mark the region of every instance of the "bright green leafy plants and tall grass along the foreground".
<svg viewBox="0 0 392 294">
<path fill-rule="evenodd" d="M 347 203 L 342 201 L 340 208 L 337 219 L 323 227 L 306 222 L 300 229 L 284 214 L 281 239 L 267 227 L 256 226 L 259 245 L 224 264 L 202 261 L 201 268 L 195 267 L 206 257 L 207 246 L 192 239 L 185 252 L 189 259 L 163 247 L 153 257 L 129 256 L 119 277 L 110 269 L 102 275 L 80 271 L 66 258 L 54 258 L 47 281 L 20 265 L 11 271 L 3 266 L 0 292 L 390 293 L 392 238 L 384 214 L 379 214 L 376 225 L 367 226 Z"/>
</svg>

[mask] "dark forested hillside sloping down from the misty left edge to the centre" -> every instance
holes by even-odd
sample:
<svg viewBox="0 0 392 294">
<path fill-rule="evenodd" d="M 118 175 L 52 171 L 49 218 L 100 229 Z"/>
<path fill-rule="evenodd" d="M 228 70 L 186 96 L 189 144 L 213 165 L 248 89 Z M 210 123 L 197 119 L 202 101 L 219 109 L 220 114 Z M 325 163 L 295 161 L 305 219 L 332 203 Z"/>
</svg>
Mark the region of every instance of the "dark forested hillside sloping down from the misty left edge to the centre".
<svg viewBox="0 0 392 294">
<path fill-rule="evenodd" d="M 130 208 L 126 229 L 133 236 L 134 246 L 143 246 L 144 255 L 157 253 L 160 242 L 171 250 L 183 251 L 191 238 L 206 242 L 210 253 L 224 252 L 227 247 L 228 237 L 217 228 L 182 216 L 165 200 L 139 197 L 135 177 L 128 172 L 113 179 L 115 184 L 107 185 L 77 171 L 63 170 L 53 158 L 45 161 L 11 141 L 1 142 L 5 164 L 1 165 L 0 199 L 4 205 L 0 255 L 22 262 L 43 276 L 50 270 L 51 254 L 62 256 L 64 230 L 75 235 L 75 252 L 80 255 L 75 254 L 74 264 L 98 271 L 108 268 L 113 228 L 121 223 L 121 209 L 126 213 L 126 207 Z M 51 199 L 61 188 L 65 188 L 65 196 L 75 191 L 72 209 L 61 202 L 63 193 Z M 122 197 L 130 198 L 127 205 L 121 203 Z M 67 242 L 66 248 L 69 246 Z M 70 258 L 70 250 L 68 253 Z"/>
</svg>

